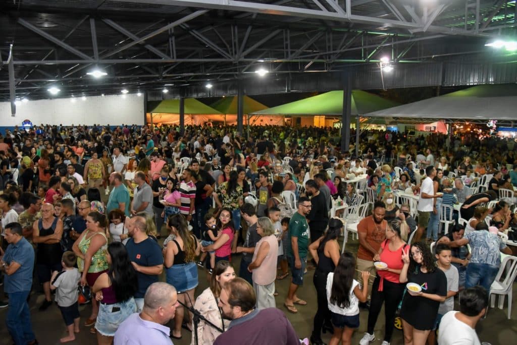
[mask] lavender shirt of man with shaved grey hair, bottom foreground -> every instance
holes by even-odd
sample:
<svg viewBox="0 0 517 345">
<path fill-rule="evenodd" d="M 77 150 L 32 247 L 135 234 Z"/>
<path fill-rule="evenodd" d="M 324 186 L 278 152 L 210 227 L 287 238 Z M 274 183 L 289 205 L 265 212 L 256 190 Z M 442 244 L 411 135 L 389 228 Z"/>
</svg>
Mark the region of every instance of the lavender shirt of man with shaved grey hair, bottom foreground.
<svg viewBox="0 0 517 345">
<path fill-rule="evenodd" d="M 118 326 L 115 345 L 172 345 L 171 328 L 156 322 L 142 320 L 138 312 L 131 314 Z"/>
</svg>

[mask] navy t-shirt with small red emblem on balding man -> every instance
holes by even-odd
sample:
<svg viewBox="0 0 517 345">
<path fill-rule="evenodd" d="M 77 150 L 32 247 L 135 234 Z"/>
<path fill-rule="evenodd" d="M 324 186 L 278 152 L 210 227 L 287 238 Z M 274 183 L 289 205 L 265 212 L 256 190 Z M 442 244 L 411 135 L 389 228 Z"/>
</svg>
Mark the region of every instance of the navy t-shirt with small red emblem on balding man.
<svg viewBox="0 0 517 345">
<path fill-rule="evenodd" d="M 163 256 L 160 245 L 150 237 L 140 243 L 134 243 L 129 239 L 126 243 L 129 260 L 141 266 L 156 266 L 163 264 Z M 143 299 L 149 285 L 158 281 L 157 275 L 137 272 L 138 291 L 134 294 L 135 299 Z M 149 342 L 150 343 L 150 342 Z"/>
</svg>

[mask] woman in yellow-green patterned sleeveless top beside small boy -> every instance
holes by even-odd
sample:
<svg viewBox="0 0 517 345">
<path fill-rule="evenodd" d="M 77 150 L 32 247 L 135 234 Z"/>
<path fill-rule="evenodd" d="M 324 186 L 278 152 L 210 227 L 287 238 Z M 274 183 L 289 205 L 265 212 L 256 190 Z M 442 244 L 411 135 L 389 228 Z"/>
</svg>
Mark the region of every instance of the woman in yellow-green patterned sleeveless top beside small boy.
<svg viewBox="0 0 517 345">
<path fill-rule="evenodd" d="M 86 216 L 86 230 L 72 246 L 72 250 L 77 255 L 77 267 L 82 272 L 81 285 L 94 286 L 95 280 L 104 272 L 108 271 L 108 261 L 106 260 L 106 249 L 108 239 L 104 232 L 107 227 L 106 216 L 93 211 Z M 99 312 L 99 303 L 92 299 L 92 315 L 84 322 L 85 326 L 95 324 Z M 94 330 L 95 332 L 95 330 Z"/>
</svg>

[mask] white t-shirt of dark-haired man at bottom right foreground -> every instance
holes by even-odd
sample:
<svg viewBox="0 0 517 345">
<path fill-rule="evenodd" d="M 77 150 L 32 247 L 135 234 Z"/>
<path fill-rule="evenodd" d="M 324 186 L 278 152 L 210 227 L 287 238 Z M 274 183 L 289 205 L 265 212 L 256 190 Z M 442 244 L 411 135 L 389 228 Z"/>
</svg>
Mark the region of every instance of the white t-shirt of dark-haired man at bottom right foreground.
<svg viewBox="0 0 517 345">
<path fill-rule="evenodd" d="M 481 345 L 476 330 L 456 318 L 459 311 L 449 311 L 440 321 L 438 343 L 440 345 Z"/>
</svg>

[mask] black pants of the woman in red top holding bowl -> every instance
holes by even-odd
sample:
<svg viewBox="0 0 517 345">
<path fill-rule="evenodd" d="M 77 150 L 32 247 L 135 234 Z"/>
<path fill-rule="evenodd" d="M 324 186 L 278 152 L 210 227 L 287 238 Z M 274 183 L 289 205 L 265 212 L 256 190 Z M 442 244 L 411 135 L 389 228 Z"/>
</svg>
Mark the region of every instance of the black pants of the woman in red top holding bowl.
<svg viewBox="0 0 517 345">
<path fill-rule="evenodd" d="M 387 342 L 391 341 L 391 335 L 393 334 L 393 327 L 395 322 L 395 313 L 399 307 L 399 303 L 402 300 L 404 293 L 405 284 L 391 283 L 384 279 L 383 291 L 378 291 L 379 283 L 381 278 L 378 276 L 373 281 L 372 287 L 372 299 L 370 300 L 370 312 L 368 313 L 368 333 L 373 334 L 377 317 L 381 312 L 381 307 L 384 303 L 384 317 L 386 319 L 386 328 L 384 331 L 384 340 Z"/>
</svg>

